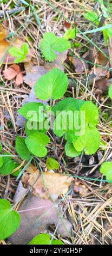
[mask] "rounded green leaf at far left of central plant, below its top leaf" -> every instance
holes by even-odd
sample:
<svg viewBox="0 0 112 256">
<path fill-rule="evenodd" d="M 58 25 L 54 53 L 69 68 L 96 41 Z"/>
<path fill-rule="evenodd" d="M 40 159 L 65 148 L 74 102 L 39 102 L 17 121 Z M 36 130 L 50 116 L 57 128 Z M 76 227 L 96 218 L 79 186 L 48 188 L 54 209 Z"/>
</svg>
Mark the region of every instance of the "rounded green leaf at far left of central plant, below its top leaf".
<svg viewBox="0 0 112 256">
<path fill-rule="evenodd" d="M 43 121 L 45 119 L 43 110 L 44 106 L 42 103 L 29 102 L 19 108 L 18 113 L 31 121 Z"/>
</svg>

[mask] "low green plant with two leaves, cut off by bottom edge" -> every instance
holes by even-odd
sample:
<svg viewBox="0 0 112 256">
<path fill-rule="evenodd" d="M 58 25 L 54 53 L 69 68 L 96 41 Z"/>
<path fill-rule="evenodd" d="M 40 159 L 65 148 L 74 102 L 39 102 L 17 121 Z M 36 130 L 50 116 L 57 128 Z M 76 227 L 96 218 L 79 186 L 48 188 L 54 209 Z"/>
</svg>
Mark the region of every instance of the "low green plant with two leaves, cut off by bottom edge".
<svg viewBox="0 0 112 256">
<path fill-rule="evenodd" d="M 63 245 L 61 240 L 52 240 L 48 234 L 36 235 L 28 245 Z"/>
</svg>

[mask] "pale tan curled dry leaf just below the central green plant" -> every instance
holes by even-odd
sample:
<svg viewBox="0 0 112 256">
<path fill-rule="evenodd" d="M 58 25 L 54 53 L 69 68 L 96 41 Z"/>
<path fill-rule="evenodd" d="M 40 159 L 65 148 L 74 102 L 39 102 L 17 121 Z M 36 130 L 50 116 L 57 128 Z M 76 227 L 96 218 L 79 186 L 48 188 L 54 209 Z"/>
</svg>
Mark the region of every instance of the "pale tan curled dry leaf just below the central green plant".
<svg viewBox="0 0 112 256">
<path fill-rule="evenodd" d="M 49 197 L 52 197 L 57 199 L 61 193 L 67 193 L 71 181 L 74 180 L 67 175 L 50 172 L 43 172 L 43 174 L 39 176 L 39 170 L 36 170 L 34 166 L 27 168 L 27 172 L 28 169 L 30 169 L 30 173 L 31 169 L 34 170 L 29 175 L 29 179 L 27 173 L 27 183 L 34 189 L 32 193 L 40 198 L 48 199 Z M 22 176 L 22 182 L 24 182 L 25 176 L 26 173 Z M 37 179 L 38 176 L 39 178 Z"/>
</svg>

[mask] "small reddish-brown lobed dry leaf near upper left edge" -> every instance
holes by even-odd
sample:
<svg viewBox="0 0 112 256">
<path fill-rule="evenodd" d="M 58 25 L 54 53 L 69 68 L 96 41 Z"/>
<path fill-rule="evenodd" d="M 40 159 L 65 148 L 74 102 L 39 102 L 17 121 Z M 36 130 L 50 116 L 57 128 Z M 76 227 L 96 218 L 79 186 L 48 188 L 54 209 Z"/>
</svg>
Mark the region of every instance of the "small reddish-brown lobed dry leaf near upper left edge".
<svg viewBox="0 0 112 256">
<path fill-rule="evenodd" d="M 19 65 L 13 64 L 8 69 L 3 71 L 4 78 L 8 81 L 16 77 L 15 84 L 19 86 L 23 83 L 23 72 L 19 68 Z"/>
</svg>

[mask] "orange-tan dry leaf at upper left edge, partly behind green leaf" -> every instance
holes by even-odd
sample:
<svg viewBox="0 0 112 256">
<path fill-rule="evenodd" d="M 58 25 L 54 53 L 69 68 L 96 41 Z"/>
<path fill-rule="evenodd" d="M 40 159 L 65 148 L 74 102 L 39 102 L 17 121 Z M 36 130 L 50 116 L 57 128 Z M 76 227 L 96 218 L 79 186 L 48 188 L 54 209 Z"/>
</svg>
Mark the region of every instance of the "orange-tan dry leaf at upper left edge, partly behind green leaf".
<svg viewBox="0 0 112 256">
<path fill-rule="evenodd" d="M 10 56 L 10 54 L 8 53 L 9 47 L 21 47 L 24 41 L 21 39 L 16 39 L 15 41 L 6 41 L 6 36 L 8 36 L 8 31 L 6 31 L 6 29 L 4 29 L 2 25 L 0 25 L 0 63 L 2 62 L 4 64 L 12 64 L 14 63 L 15 57 Z M 29 49 L 27 59 L 24 59 L 22 62 L 29 62 L 29 60 L 31 60 L 32 58 L 32 54 L 34 54 L 34 51 L 32 49 Z"/>
</svg>

